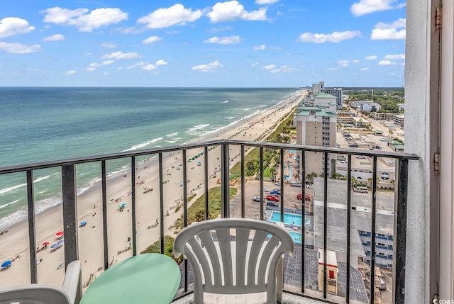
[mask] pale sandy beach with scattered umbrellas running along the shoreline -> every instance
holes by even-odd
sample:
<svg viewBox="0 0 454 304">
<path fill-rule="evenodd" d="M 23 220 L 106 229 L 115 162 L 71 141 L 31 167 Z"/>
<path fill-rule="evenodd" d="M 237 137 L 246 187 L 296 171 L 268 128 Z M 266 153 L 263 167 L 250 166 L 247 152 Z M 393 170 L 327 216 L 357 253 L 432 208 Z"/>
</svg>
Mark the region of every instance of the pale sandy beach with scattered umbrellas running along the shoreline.
<svg viewBox="0 0 454 304">
<path fill-rule="evenodd" d="M 286 118 L 292 109 L 297 106 L 301 96 L 306 91 L 301 91 L 297 96 L 279 103 L 277 106 L 263 111 L 262 113 L 242 120 L 230 128 L 224 128 L 216 133 L 211 133 L 199 140 L 216 140 L 221 138 L 233 138 L 236 140 L 263 140 L 274 130 L 282 119 Z M 199 154 L 201 149 L 187 151 L 187 158 Z M 237 162 L 239 147 L 232 147 L 230 152 L 231 166 Z M 187 163 L 187 189 L 188 196 L 192 193 L 196 201 L 204 193 L 204 166 L 208 166 L 209 174 L 215 174 L 220 168 L 221 151 L 217 147 L 209 152 L 208 164 L 197 165 L 197 162 Z M 202 159 L 203 161 L 203 159 Z M 163 155 L 163 175 L 166 183 L 163 185 L 162 196 L 164 206 L 165 235 L 175 237 L 175 232 L 169 227 L 182 214 L 180 209 L 175 212 L 177 204 L 182 201 L 183 170 L 179 169 L 182 164 L 182 153 L 174 152 Z M 153 244 L 160 237 L 160 227 L 157 225 L 160 218 L 160 191 L 157 162 L 139 162 L 136 164 L 135 201 L 136 201 L 136 235 L 137 252 Z M 79 168 L 78 168 L 79 169 Z M 82 168 L 81 168 L 82 169 Z M 108 164 L 108 171 L 110 169 Z M 209 179 L 209 188 L 218 186 L 216 179 Z M 147 191 L 153 188 L 153 191 Z M 132 237 L 131 222 L 131 176 L 108 179 L 107 181 L 107 222 L 109 235 L 109 262 L 115 263 L 127 257 L 131 257 Z M 79 259 L 82 261 L 82 282 L 84 285 L 103 271 L 103 235 L 102 235 L 102 206 L 101 188 L 96 185 L 78 196 L 77 214 L 78 222 L 87 222 L 78 228 L 79 234 Z M 118 208 L 125 204 L 124 208 Z M 55 206 L 36 216 L 36 246 L 44 247 L 44 242 L 49 242 L 47 248 L 37 253 L 38 281 L 61 286 L 65 274 L 65 268 L 59 267 L 64 261 L 64 244 L 60 249 L 51 249 L 56 243 L 57 232 L 63 228 L 62 206 Z M 0 263 L 7 259 L 14 259 L 11 266 L 0 271 L 0 286 L 11 286 L 21 283 L 30 283 L 30 259 L 28 256 L 28 225 L 19 223 L 9 228 L 9 231 L 0 235 Z"/>
</svg>

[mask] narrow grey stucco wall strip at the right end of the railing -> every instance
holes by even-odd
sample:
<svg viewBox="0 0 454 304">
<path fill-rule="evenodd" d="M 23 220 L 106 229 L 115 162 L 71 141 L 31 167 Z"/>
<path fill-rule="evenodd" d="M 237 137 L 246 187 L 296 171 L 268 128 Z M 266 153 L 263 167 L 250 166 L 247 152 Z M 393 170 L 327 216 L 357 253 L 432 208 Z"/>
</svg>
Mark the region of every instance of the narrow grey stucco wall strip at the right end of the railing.
<svg viewBox="0 0 454 304">
<path fill-rule="evenodd" d="M 428 291 L 430 230 L 431 1 L 406 4 L 405 152 L 419 155 L 409 162 L 405 303 L 431 303 Z"/>
</svg>

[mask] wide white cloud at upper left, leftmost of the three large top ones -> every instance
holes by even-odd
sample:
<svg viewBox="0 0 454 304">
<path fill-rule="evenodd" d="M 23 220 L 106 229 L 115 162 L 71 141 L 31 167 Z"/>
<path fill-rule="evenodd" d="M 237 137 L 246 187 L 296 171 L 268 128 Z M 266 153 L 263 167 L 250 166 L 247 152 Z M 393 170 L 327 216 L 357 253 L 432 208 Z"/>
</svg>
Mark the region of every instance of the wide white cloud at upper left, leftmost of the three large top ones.
<svg viewBox="0 0 454 304">
<path fill-rule="evenodd" d="M 121 9 L 102 8 L 88 12 L 88 9 L 70 10 L 61 7 L 41 11 L 41 13 L 46 13 L 44 22 L 76 26 L 82 32 L 92 32 L 95 28 L 128 20 L 128 13 L 124 13 Z"/>
</svg>

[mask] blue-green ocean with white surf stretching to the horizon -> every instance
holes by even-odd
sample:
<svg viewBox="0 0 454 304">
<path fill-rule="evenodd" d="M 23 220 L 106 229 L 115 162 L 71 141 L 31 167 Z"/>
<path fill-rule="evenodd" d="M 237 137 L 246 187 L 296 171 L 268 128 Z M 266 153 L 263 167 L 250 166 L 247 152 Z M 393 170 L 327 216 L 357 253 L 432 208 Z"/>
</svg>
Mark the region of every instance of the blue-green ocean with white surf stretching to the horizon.
<svg viewBox="0 0 454 304">
<path fill-rule="evenodd" d="M 181 145 L 294 94 L 288 88 L 3 87 L 0 167 Z M 111 174 L 126 165 L 119 166 Z M 78 166 L 77 175 L 80 194 L 99 181 L 99 166 Z M 59 170 L 33 177 L 37 213 L 61 203 Z M 26 212 L 25 174 L 0 175 L 0 230 L 26 219 Z"/>
</svg>

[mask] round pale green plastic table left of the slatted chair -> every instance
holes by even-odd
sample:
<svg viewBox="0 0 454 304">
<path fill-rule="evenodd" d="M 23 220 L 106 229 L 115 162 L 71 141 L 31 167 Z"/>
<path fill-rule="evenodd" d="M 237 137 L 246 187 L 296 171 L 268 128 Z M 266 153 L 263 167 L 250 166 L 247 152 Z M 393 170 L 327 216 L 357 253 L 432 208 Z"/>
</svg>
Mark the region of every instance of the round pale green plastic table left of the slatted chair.
<svg viewBox="0 0 454 304">
<path fill-rule="evenodd" d="M 139 254 L 115 264 L 87 288 L 80 304 L 170 303 L 181 274 L 164 254 Z"/>
</svg>

